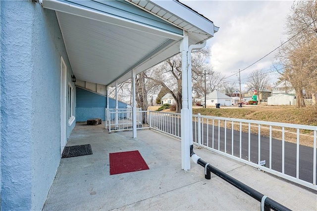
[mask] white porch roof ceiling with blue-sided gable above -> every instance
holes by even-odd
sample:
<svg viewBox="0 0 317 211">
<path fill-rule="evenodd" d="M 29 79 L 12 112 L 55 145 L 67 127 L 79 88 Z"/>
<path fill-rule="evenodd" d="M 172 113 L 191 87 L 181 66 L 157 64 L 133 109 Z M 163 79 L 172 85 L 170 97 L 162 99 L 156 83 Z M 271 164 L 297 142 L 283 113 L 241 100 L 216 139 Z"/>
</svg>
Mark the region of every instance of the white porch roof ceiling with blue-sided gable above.
<svg viewBox="0 0 317 211">
<path fill-rule="evenodd" d="M 185 8 L 177 1 L 172 2 L 176 3 L 173 7 Z M 121 83 L 131 78 L 132 69 L 142 72 L 178 53 L 185 28 L 190 44 L 213 36 L 168 12 L 162 7 L 166 5 L 149 3 L 149 0 L 43 0 L 42 5 L 56 11 L 76 78 L 112 86 L 114 81 Z M 193 15 L 189 8 L 186 10 Z M 212 32 L 217 30 L 211 21 L 204 21 Z"/>
</svg>

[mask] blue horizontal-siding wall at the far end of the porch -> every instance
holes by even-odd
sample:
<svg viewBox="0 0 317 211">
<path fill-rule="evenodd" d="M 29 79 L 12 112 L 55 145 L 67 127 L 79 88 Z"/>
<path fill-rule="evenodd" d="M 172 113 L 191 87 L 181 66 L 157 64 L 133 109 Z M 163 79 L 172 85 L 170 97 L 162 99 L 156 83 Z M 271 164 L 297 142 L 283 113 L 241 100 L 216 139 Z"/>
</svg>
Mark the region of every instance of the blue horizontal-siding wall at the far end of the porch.
<svg viewBox="0 0 317 211">
<path fill-rule="evenodd" d="M 76 121 L 101 118 L 105 121 L 107 98 L 97 93 L 76 87 Z M 128 104 L 118 101 L 119 108 L 126 108 Z M 109 108 L 115 108 L 115 100 L 109 98 Z"/>
</svg>

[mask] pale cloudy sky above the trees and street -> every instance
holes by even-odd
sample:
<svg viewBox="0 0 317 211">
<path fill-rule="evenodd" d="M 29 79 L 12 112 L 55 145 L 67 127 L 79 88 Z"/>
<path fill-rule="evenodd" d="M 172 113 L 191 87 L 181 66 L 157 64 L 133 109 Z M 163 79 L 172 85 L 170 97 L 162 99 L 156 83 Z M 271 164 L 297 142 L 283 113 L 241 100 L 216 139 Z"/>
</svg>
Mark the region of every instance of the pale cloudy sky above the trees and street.
<svg viewBox="0 0 317 211">
<path fill-rule="evenodd" d="M 227 1 L 181 0 L 203 14 L 219 27 L 207 45 L 211 48 L 209 62 L 214 71 L 221 72 L 229 81 L 239 84 L 238 72 L 271 52 L 287 40 L 284 34 L 285 20 L 293 1 Z M 277 51 L 275 51 L 277 53 Z M 251 67 L 241 71 L 242 90 L 246 88 L 249 74 L 256 69 L 270 72 L 276 62 L 271 53 Z M 271 83 L 278 74 L 268 73 Z"/>
</svg>

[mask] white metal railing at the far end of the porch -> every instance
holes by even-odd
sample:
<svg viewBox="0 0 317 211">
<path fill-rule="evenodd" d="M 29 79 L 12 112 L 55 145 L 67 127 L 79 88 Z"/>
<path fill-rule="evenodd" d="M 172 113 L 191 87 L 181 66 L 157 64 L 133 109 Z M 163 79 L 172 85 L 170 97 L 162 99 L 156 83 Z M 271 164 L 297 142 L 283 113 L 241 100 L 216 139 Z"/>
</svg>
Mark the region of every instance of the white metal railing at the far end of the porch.
<svg viewBox="0 0 317 211">
<path fill-rule="evenodd" d="M 148 111 L 142 111 L 141 108 L 137 108 L 137 127 L 138 129 L 150 128 L 146 126 Z M 132 108 L 106 108 L 106 129 L 109 132 L 132 130 Z"/>
</svg>

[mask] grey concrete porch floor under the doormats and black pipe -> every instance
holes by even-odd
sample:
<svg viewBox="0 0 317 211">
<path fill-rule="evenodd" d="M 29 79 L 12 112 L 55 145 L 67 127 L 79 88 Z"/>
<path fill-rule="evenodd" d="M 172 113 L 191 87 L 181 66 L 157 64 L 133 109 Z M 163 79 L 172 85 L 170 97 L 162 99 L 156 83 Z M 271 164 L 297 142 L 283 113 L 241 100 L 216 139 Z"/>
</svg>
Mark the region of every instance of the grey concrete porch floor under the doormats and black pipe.
<svg viewBox="0 0 317 211">
<path fill-rule="evenodd" d="M 77 123 L 67 146 L 91 144 L 93 155 L 62 158 L 44 211 L 261 210 L 258 201 L 194 162 L 181 169 L 180 140 L 153 130 L 108 133 Z M 138 150 L 149 170 L 109 175 L 109 153 Z M 291 210 L 317 210 L 317 194 L 205 149 L 195 153 Z"/>
</svg>

